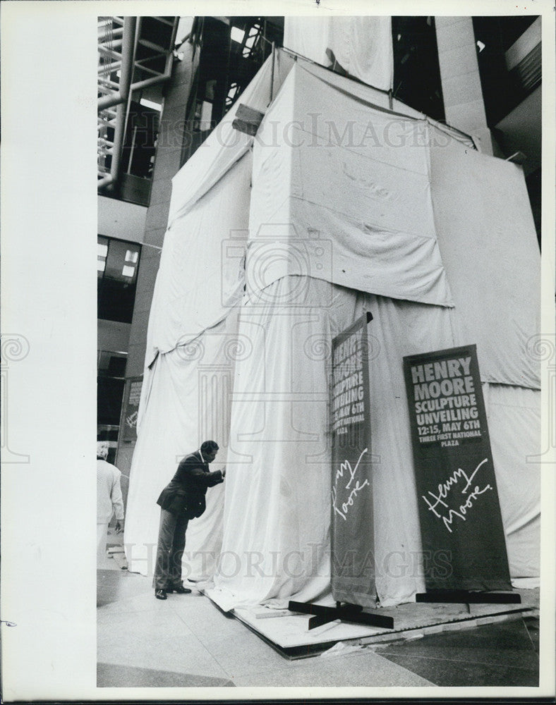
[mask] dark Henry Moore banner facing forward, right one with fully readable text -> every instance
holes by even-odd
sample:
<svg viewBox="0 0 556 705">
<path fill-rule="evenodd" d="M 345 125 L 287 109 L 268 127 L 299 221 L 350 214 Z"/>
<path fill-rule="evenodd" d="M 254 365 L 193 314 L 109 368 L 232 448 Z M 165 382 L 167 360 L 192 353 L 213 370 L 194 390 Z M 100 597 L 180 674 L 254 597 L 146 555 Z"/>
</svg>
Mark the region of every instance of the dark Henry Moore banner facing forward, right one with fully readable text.
<svg viewBox="0 0 556 705">
<path fill-rule="evenodd" d="M 404 357 L 404 376 L 425 585 L 511 590 L 476 345 Z"/>
</svg>

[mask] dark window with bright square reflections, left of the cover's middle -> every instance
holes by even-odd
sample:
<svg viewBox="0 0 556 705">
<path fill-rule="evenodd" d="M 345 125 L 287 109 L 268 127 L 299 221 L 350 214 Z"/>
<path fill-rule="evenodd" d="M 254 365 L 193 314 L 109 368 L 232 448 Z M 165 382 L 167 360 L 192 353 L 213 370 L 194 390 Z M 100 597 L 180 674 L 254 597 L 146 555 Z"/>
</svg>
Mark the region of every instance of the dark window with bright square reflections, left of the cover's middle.
<svg viewBox="0 0 556 705">
<path fill-rule="evenodd" d="M 98 237 L 97 318 L 131 323 L 141 246 Z"/>
</svg>

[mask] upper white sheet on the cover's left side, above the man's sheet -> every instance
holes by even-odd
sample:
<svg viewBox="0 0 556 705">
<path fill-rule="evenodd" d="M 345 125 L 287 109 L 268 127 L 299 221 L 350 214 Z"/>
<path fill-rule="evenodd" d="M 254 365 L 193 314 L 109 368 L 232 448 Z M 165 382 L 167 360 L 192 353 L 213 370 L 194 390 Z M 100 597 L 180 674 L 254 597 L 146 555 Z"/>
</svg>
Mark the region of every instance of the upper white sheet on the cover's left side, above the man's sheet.
<svg viewBox="0 0 556 705">
<path fill-rule="evenodd" d="M 169 226 L 152 297 L 147 366 L 157 352 L 191 341 L 241 301 L 250 178 L 246 152 Z"/>
</svg>

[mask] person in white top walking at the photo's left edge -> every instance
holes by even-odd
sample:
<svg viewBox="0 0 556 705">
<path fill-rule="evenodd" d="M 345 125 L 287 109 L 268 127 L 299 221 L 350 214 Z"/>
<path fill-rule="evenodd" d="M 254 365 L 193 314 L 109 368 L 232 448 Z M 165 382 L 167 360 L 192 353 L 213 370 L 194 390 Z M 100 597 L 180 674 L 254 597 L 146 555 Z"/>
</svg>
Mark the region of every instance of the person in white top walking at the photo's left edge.
<svg viewBox="0 0 556 705">
<path fill-rule="evenodd" d="M 121 496 L 121 472 L 106 461 L 108 443 L 97 443 L 97 563 L 106 558 L 108 525 L 116 513 L 116 534 L 123 531 L 123 499 Z"/>
</svg>

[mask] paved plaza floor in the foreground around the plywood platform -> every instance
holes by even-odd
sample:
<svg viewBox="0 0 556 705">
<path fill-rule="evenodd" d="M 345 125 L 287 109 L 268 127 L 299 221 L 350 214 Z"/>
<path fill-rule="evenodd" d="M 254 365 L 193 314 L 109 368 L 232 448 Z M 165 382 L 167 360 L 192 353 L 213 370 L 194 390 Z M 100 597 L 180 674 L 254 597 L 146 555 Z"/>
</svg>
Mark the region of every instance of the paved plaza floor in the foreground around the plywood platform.
<svg viewBox="0 0 556 705">
<path fill-rule="evenodd" d="M 156 600 L 149 578 L 111 558 L 97 583 L 99 687 L 538 685 L 534 615 L 292 661 L 193 586 Z"/>
</svg>

